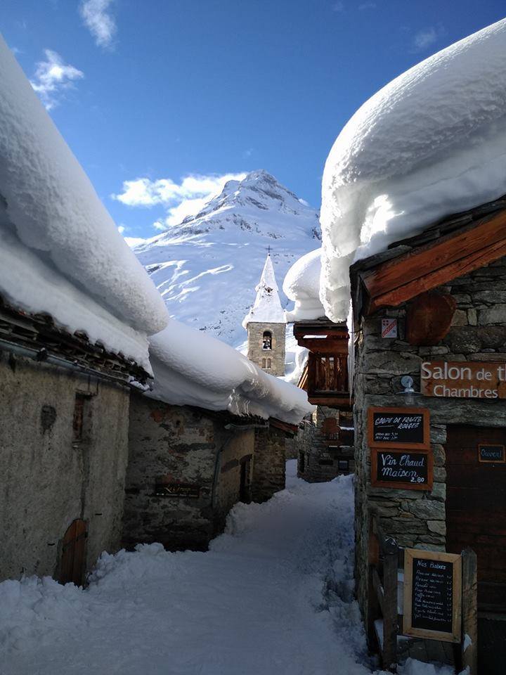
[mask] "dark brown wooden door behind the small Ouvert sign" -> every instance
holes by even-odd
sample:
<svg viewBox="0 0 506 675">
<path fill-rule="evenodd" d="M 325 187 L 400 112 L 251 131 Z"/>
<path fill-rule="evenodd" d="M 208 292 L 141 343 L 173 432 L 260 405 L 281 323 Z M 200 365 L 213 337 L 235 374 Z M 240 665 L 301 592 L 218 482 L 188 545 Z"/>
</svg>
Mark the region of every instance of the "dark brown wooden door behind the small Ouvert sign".
<svg viewBox="0 0 506 675">
<path fill-rule="evenodd" d="M 506 463 L 479 461 L 479 445 L 506 446 L 506 429 L 449 426 L 446 550 L 478 557 L 481 610 L 506 610 Z"/>
</svg>

